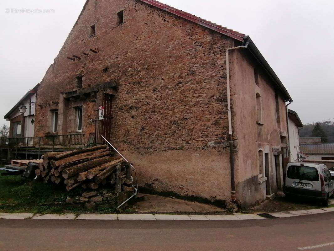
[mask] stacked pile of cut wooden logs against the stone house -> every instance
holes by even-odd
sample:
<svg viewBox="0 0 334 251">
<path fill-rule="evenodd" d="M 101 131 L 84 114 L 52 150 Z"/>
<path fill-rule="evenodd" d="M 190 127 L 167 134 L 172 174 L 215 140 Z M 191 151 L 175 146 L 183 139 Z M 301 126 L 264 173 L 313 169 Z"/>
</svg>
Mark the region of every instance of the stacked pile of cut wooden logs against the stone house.
<svg viewBox="0 0 334 251">
<path fill-rule="evenodd" d="M 131 167 L 121 157 L 112 156 L 107 145 L 102 145 L 45 153 L 35 173 L 43 178 L 44 183 L 64 183 L 69 191 L 77 186 L 97 189 L 100 184 L 105 185 L 107 182 L 115 184 L 116 171 L 120 173 L 119 183 L 130 188 L 133 182 Z"/>
</svg>

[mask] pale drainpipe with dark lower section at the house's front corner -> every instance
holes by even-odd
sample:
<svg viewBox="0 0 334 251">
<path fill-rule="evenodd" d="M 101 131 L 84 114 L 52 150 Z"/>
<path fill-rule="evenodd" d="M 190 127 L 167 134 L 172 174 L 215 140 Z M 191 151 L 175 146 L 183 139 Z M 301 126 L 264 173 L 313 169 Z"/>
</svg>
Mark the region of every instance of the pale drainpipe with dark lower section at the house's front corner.
<svg viewBox="0 0 334 251">
<path fill-rule="evenodd" d="M 230 169 L 231 169 L 231 199 L 236 200 L 235 180 L 234 180 L 234 152 L 233 152 L 233 134 L 232 134 L 232 118 L 231 118 L 231 99 L 230 99 L 230 83 L 229 83 L 229 59 L 228 53 L 231 50 L 245 49 L 249 42 L 246 40 L 245 45 L 228 48 L 226 50 L 226 82 L 227 82 L 227 113 L 228 113 L 228 134 L 229 134 L 229 150 L 230 150 Z"/>
</svg>

